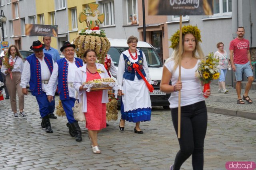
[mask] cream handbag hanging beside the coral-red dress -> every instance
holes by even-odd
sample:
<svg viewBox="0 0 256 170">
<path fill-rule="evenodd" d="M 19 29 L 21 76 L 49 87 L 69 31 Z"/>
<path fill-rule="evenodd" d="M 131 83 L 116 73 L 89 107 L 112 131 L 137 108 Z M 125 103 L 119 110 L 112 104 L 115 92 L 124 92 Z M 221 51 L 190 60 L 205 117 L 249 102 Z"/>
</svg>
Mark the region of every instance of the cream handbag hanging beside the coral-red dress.
<svg viewBox="0 0 256 170">
<path fill-rule="evenodd" d="M 75 101 L 75 105 L 74 107 L 72 107 L 73 110 L 73 114 L 74 114 L 74 119 L 76 121 L 81 121 L 84 122 L 85 120 L 85 116 L 84 116 L 84 112 L 82 111 L 83 109 L 83 95 L 81 96 L 81 99 L 78 100 L 78 94 L 76 92 L 76 101 Z"/>
</svg>

